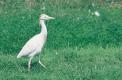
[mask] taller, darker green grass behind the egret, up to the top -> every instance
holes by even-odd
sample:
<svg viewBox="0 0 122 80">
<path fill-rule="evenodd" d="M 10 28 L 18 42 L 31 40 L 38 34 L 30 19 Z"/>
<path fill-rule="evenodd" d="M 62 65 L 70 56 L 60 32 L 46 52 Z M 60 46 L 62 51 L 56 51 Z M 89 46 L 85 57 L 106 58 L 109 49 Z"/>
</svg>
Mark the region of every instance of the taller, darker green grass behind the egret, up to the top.
<svg viewBox="0 0 122 80">
<path fill-rule="evenodd" d="M 106 47 L 122 43 L 121 7 L 111 8 L 111 4 L 92 7 L 90 0 L 44 0 L 44 3 L 42 0 L 12 1 L 2 0 L 4 4 L 0 5 L 1 52 L 17 53 L 29 38 L 39 33 L 38 19 L 41 13 L 56 18 L 47 22 L 47 48 L 91 44 Z M 100 17 L 91 15 L 95 10 L 100 12 Z"/>
</svg>

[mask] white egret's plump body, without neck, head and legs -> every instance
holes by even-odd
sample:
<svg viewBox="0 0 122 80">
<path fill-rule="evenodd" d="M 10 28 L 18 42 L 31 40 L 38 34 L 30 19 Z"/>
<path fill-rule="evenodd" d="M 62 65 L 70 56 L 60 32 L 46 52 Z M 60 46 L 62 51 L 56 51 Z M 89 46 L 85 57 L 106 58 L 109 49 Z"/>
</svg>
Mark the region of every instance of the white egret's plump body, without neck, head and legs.
<svg viewBox="0 0 122 80">
<path fill-rule="evenodd" d="M 22 56 L 35 56 L 34 52 L 38 54 L 41 52 L 44 43 L 46 42 L 47 35 L 43 34 L 37 34 L 34 37 L 32 37 L 22 48 L 20 53 L 18 54 L 17 58 L 20 58 Z"/>
</svg>

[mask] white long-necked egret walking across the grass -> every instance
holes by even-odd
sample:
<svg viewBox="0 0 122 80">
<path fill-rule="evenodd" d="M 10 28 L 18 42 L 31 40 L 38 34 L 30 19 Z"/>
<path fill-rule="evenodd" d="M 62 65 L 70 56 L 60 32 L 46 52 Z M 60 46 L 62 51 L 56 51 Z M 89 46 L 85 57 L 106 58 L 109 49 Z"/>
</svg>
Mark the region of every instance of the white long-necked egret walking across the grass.
<svg viewBox="0 0 122 80">
<path fill-rule="evenodd" d="M 24 56 L 29 57 L 28 61 L 28 71 L 30 71 L 31 68 L 31 61 L 34 58 L 34 56 L 39 55 L 41 53 L 46 39 L 47 39 L 47 28 L 45 25 L 46 20 L 55 19 L 54 17 L 48 16 L 46 14 L 41 14 L 39 17 L 39 24 L 41 26 L 41 32 L 35 36 L 33 36 L 30 40 L 26 42 L 26 44 L 23 46 L 19 54 L 17 55 L 17 58 L 21 58 Z M 39 59 L 39 64 L 41 64 L 42 67 L 46 68 L 44 64 Z"/>
</svg>

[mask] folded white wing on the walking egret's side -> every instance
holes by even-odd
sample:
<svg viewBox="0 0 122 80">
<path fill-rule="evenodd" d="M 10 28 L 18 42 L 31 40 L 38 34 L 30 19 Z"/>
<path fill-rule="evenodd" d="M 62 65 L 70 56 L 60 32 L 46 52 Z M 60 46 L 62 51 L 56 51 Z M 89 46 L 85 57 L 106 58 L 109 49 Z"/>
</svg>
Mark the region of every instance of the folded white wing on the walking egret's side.
<svg viewBox="0 0 122 80">
<path fill-rule="evenodd" d="M 18 56 L 21 57 L 33 53 L 36 50 L 36 46 L 38 45 L 38 42 L 39 42 L 39 35 L 37 34 L 24 45 L 24 47 L 22 48 Z"/>
</svg>

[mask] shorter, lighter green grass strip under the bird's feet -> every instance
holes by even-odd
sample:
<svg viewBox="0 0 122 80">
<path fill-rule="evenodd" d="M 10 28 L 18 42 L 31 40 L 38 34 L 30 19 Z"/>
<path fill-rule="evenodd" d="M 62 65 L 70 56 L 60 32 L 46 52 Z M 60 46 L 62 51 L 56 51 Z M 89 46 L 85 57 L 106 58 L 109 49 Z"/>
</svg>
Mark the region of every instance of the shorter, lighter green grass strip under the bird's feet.
<svg viewBox="0 0 122 80">
<path fill-rule="evenodd" d="M 66 48 L 45 49 L 41 55 L 47 69 L 36 57 L 27 71 L 27 58 L 17 60 L 15 55 L 0 56 L 2 80 L 121 80 L 122 48 Z"/>
</svg>

